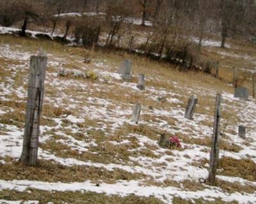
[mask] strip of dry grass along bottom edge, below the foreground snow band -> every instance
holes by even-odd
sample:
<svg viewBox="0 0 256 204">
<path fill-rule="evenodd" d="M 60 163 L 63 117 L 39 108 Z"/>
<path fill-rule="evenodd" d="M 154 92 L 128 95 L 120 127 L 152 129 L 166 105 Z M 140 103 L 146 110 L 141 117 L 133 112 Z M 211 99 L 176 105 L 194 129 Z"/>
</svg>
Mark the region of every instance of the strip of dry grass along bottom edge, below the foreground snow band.
<svg viewBox="0 0 256 204">
<path fill-rule="evenodd" d="M 2 200 L 37 200 L 40 203 L 74 203 L 74 204 L 163 204 L 162 201 L 154 198 L 153 196 L 143 197 L 135 196 L 131 194 L 129 196 L 108 196 L 106 194 L 86 192 L 81 191 L 40 191 L 37 189 L 28 188 L 28 191 L 10 191 L 3 190 L 0 191 L 0 199 Z"/>
</svg>

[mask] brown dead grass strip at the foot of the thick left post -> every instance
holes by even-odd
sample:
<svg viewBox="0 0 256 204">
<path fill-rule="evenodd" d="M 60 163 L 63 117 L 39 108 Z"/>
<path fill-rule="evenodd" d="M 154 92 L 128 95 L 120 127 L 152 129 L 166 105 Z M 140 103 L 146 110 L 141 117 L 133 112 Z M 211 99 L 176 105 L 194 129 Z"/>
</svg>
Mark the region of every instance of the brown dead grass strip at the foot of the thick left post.
<svg viewBox="0 0 256 204">
<path fill-rule="evenodd" d="M 113 171 L 93 166 L 63 166 L 52 161 L 39 160 L 35 167 L 25 166 L 17 161 L 0 163 L 0 179 L 3 180 L 38 180 L 43 182 L 106 182 L 114 184 L 116 180 L 145 178 L 143 173 L 130 173 L 115 168 Z"/>
</svg>

